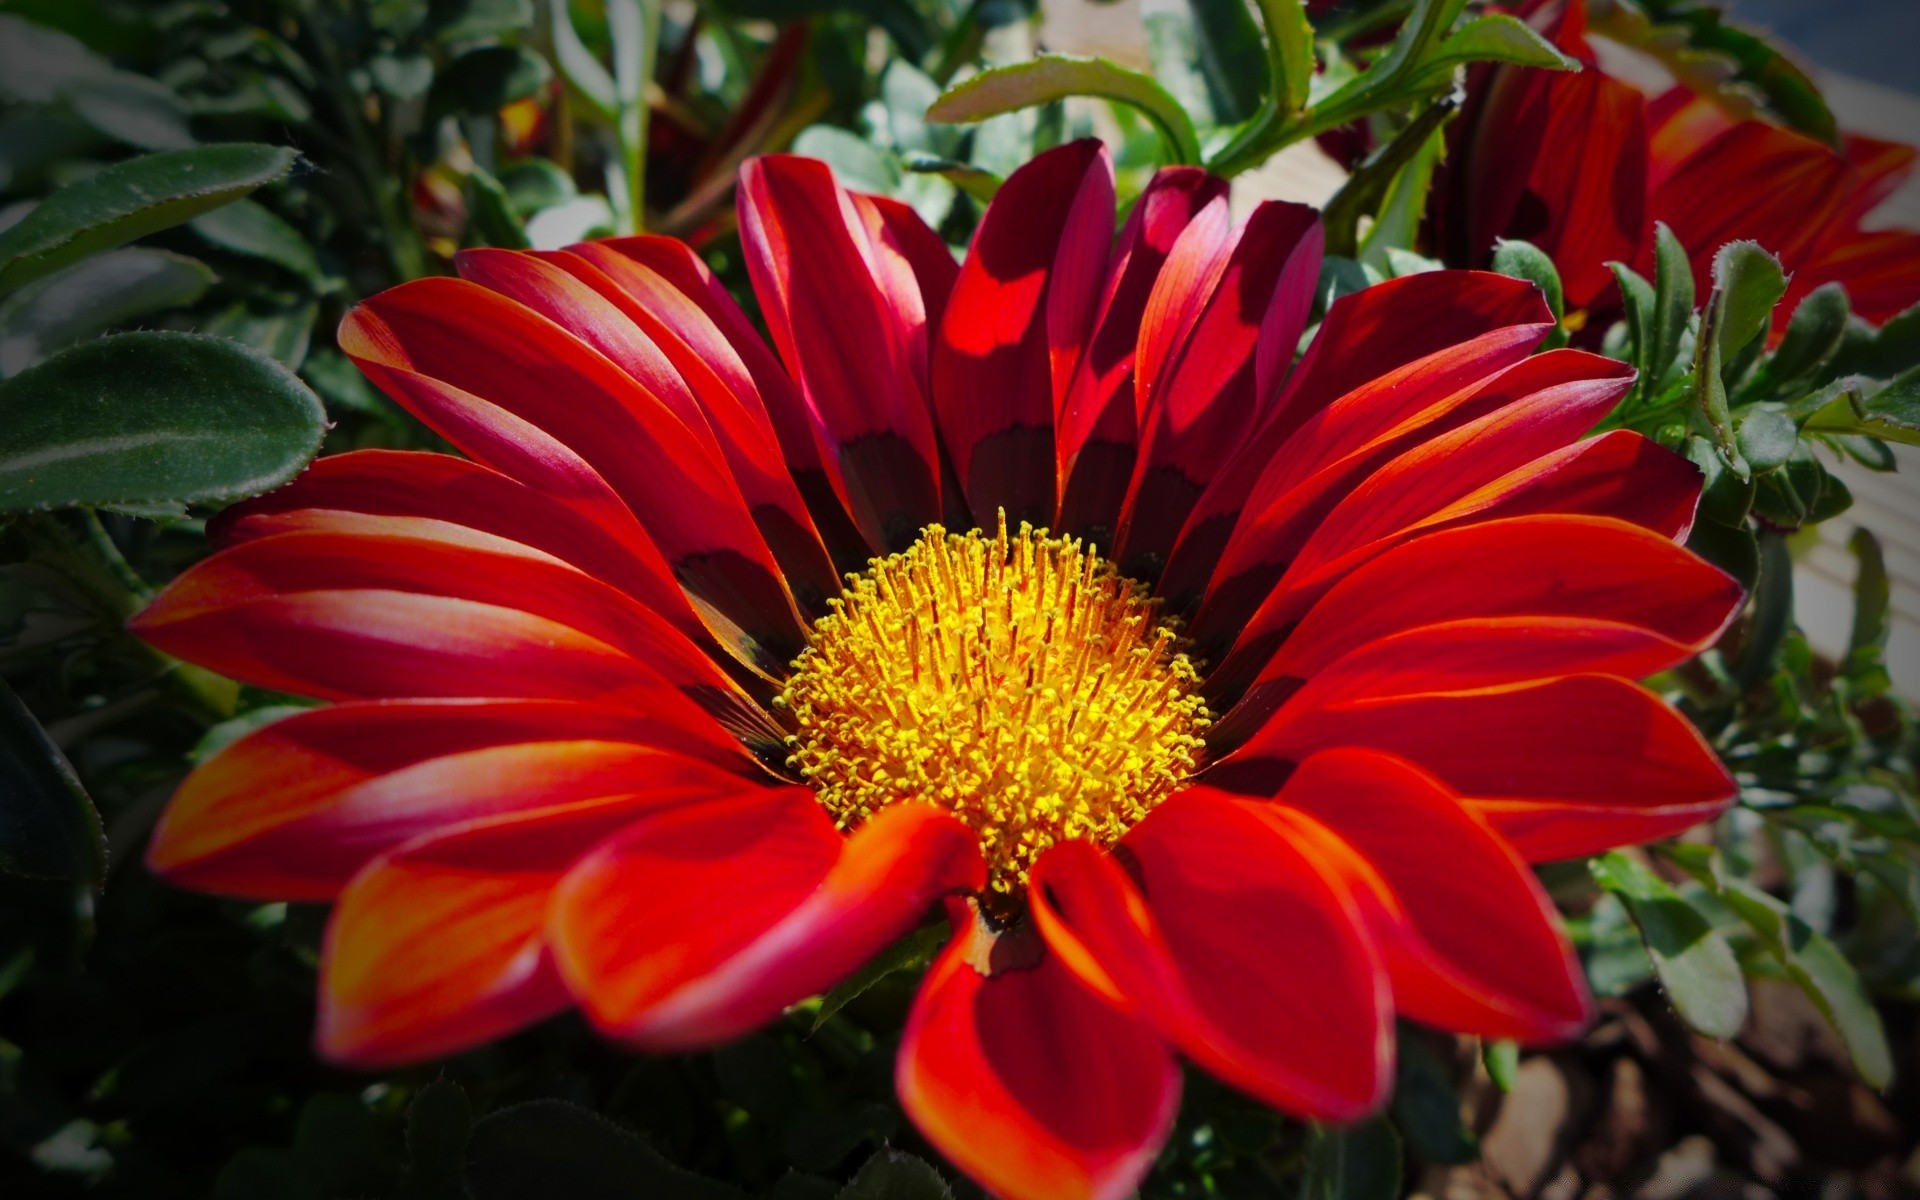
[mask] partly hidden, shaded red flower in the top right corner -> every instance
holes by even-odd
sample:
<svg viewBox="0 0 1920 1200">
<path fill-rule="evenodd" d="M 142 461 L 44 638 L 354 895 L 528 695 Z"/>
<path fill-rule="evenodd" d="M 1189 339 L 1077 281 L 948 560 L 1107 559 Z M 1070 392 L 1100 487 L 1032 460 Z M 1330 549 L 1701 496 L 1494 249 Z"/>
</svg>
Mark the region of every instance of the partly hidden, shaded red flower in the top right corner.
<svg viewBox="0 0 1920 1200">
<path fill-rule="evenodd" d="M 1653 223 L 1665 221 L 1693 257 L 1701 296 L 1726 242 L 1780 255 L 1793 275 L 1782 323 L 1826 282 L 1843 284 L 1874 324 L 1920 301 L 1920 234 L 1866 227 L 1912 171 L 1910 146 L 1849 134 L 1836 150 L 1682 86 L 1649 100 L 1599 69 L 1586 0 L 1523 12 L 1584 69 L 1482 69 L 1434 188 L 1446 261 L 1484 265 L 1496 238 L 1524 238 L 1553 257 L 1567 307 L 1605 319 L 1619 305 L 1607 261 L 1651 273 Z"/>
</svg>

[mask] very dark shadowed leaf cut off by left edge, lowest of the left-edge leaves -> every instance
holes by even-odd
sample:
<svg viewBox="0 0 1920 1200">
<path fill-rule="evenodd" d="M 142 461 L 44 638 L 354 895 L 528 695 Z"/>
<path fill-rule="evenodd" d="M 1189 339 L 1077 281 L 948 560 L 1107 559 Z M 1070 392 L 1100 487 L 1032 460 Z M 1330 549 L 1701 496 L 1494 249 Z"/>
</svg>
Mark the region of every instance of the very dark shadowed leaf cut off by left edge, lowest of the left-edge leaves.
<svg viewBox="0 0 1920 1200">
<path fill-rule="evenodd" d="M 108 839 L 67 756 L 0 680 L 0 872 L 100 887 Z"/>
</svg>

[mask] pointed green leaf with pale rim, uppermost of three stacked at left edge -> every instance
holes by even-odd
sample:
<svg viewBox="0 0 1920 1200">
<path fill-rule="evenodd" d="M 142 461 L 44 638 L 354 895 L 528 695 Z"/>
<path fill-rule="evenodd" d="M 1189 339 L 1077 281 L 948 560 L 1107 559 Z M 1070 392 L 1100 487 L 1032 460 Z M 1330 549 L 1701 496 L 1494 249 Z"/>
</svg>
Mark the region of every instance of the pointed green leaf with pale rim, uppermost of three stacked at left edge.
<svg viewBox="0 0 1920 1200">
<path fill-rule="evenodd" d="M 167 150 L 71 182 L 0 232 L 0 296 L 102 250 L 192 221 L 288 173 L 282 146 Z"/>
</svg>

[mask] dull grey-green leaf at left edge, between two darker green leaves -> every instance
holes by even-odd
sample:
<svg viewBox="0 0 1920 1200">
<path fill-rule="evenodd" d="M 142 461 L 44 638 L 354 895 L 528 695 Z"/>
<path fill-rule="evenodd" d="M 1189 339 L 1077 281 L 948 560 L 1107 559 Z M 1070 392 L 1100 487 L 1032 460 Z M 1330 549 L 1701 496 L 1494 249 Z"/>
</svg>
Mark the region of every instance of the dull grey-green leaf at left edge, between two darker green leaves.
<svg viewBox="0 0 1920 1200">
<path fill-rule="evenodd" d="M 194 303 L 209 286 L 205 263 L 146 248 L 109 250 L 36 278 L 0 300 L 0 378 L 115 324 Z"/>
</svg>

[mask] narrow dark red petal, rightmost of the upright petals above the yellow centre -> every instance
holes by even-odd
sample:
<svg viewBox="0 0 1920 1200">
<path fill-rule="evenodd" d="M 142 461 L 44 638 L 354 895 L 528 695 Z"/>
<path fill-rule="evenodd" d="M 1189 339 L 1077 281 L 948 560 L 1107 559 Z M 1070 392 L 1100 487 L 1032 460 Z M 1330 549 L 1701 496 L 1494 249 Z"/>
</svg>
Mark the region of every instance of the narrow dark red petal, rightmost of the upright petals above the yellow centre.
<svg viewBox="0 0 1920 1200">
<path fill-rule="evenodd" d="M 1261 204 L 1231 238 L 1190 330 L 1154 378 L 1142 355 L 1144 434 L 1116 551 L 1121 559 L 1173 545 L 1219 463 L 1273 403 L 1313 303 L 1321 244 L 1319 213 Z"/>
</svg>

